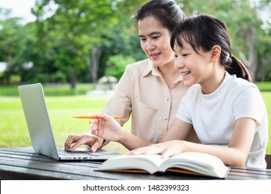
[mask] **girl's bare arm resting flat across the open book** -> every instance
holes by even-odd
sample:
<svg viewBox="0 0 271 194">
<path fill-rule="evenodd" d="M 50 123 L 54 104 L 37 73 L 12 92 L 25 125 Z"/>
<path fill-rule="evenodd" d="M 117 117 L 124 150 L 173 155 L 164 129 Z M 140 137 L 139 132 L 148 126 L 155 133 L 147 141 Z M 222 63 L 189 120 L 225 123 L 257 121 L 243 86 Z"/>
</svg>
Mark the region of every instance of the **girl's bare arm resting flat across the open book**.
<svg viewBox="0 0 271 194">
<path fill-rule="evenodd" d="M 254 119 L 240 118 L 236 121 L 228 147 L 175 140 L 139 148 L 129 152 L 129 155 L 161 154 L 163 157 L 171 157 L 181 152 L 203 152 L 219 157 L 226 165 L 245 166 L 254 139 L 255 128 Z"/>
</svg>

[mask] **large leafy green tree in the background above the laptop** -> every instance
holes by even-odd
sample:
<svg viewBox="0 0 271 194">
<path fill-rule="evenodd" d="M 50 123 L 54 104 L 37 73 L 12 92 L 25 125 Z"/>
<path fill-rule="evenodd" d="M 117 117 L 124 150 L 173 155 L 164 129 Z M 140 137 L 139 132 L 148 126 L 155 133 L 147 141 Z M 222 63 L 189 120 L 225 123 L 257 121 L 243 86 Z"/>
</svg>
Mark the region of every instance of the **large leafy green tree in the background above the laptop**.
<svg viewBox="0 0 271 194">
<path fill-rule="evenodd" d="M 54 2 L 54 15 L 43 20 L 47 6 Z M 123 19 L 118 6 L 134 5 L 131 1 L 69 1 L 43 0 L 36 2 L 33 13 L 39 21 L 42 44 L 54 47 L 55 65 L 69 73 L 72 87 L 76 73 L 88 67 L 92 82 L 97 82 L 97 71 L 102 48 L 108 33 Z M 123 7 L 122 7 L 123 8 Z M 127 8 L 127 7 L 126 7 Z M 129 9 L 128 9 L 129 10 Z M 126 9 L 127 11 L 127 9 Z M 85 64 L 85 66 L 83 65 Z"/>
</svg>

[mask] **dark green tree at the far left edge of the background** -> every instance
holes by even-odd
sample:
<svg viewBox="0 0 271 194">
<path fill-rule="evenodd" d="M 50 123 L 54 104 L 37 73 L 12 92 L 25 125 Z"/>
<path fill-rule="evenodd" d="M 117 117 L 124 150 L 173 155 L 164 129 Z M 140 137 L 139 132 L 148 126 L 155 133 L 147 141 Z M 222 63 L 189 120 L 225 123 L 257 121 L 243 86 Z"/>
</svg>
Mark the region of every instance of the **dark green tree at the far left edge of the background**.
<svg viewBox="0 0 271 194">
<path fill-rule="evenodd" d="M 26 64 L 32 64 L 31 53 L 35 37 L 33 25 L 23 26 L 21 18 L 10 18 L 10 10 L 0 9 L 3 20 L 0 21 L 0 61 L 7 62 L 8 68 L 3 73 L 1 82 L 10 84 L 13 76 L 21 81 L 26 72 Z M 12 80 L 11 80 L 12 81 Z"/>
</svg>

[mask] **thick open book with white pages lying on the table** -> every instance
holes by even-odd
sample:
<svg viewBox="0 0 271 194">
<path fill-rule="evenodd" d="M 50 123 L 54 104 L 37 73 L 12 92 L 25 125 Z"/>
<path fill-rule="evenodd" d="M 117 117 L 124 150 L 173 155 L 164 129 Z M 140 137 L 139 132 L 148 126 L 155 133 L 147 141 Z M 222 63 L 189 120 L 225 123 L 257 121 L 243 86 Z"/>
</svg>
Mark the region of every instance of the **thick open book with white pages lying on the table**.
<svg viewBox="0 0 271 194">
<path fill-rule="evenodd" d="M 98 170 L 165 173 L 166 171 L 225 178 L 229 173 L 221 159 L 199 152 L 183 152 L 163 159 L 161 155 L 123 155 L 104 161 Z"/>
</svg>

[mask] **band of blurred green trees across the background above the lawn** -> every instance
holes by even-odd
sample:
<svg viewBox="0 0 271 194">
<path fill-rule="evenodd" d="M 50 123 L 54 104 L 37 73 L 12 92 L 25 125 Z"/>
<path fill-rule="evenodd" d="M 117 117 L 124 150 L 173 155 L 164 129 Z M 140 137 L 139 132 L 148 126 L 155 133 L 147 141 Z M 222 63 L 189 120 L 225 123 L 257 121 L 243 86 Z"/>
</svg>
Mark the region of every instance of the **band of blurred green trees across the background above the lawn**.
<svg viewBox="0 0 271 194">
<path fill-rule="evenodd" d="M 147 0 L 39 0 L 37 21 L 22 25 L 0 8 L 0 84 L 20 82 L 96 82 L 120 75 L 126 64 L 143 60 L 131 15 Z M 271 80 L 270 0 L 176 0 L 188 17 L 206 12 L 229 28 L 233 54 L 256 81 Z M 253 1 L 255 2 L 255 1 Z M 244 11 L 245 10 L 245 11 Z M 263 21 L 265 19 L 265 21 Z M 117 62 L 115 58 L 119 58 Z M 33 67 L 26 64 L 33 63 Z M 110 65 L 107 65 L 110 64 Z"/>
</svg>

